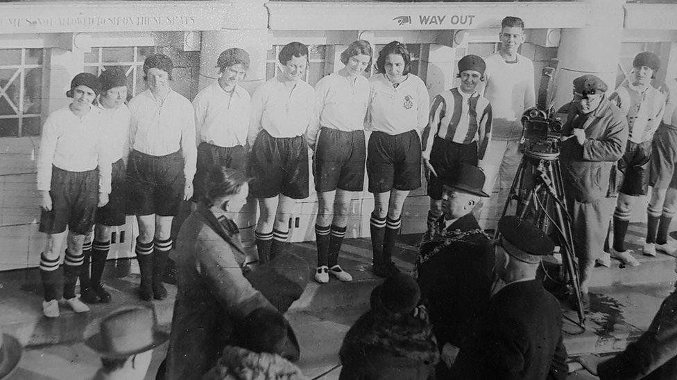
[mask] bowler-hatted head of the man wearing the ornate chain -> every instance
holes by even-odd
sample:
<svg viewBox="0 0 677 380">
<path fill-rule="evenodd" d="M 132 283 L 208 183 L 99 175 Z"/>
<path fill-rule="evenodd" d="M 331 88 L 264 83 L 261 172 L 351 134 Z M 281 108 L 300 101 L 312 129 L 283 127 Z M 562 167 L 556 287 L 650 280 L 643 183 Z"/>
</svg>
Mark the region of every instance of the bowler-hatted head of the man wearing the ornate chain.
<svg viewBox="0 0 677 380">
<path fill-rule="evenodd" d="M 458 219 L 468 215 L 481 197 L 489 197 L 482 190 L 484 172 L 467 163 L 462 163 L 456 172 L 442 178 L 442 211 L 447 219 Z"/>
</svg>

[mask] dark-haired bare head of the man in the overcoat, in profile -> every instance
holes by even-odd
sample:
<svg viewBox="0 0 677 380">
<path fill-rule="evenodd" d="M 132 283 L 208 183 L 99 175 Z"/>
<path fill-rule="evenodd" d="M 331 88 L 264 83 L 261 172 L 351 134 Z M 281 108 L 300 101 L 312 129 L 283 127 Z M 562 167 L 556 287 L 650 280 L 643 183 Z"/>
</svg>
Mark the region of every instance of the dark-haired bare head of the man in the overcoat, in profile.
<svg viewBox="0 0 677 380">
<path fill-rule="evenodd" d="M 207 175 L 207 202 L 224 211 L 238 212 L 247 203 L 249 179 L 238 170 L 214 166 Z"/>
</svg>

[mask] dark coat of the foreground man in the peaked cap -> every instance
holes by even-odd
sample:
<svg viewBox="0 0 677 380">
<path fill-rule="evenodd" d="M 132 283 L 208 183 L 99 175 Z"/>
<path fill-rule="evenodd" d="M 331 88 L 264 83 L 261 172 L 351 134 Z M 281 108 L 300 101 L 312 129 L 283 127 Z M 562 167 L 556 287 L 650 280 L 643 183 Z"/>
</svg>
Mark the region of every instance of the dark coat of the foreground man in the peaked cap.
<svg viewBox="0 0 677 380">
<path fill-rule="evenodd" d="M 507 284 L 461 347 L 454 379 L 566 379 L 561 329 L 560 304 L 540 280 Z"/>
</svg>

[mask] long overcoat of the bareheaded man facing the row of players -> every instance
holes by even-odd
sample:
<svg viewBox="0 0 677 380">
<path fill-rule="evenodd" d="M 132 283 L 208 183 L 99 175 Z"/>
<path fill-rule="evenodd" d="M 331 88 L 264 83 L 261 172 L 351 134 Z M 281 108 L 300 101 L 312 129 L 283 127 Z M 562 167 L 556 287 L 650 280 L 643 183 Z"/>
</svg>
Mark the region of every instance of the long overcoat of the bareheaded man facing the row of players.
<svg viewBox="0 0 677 380">
<path fill-rule="evenodd" d="M 275 309 L 243 274 L 237 226 L 225 241 L 209 226 L 205 207 L 184 221 L 173 252 L 178 275 L 166 379 L 200 379 L 230 343 L 234 323 L 260 307 Z"/>
</svg>

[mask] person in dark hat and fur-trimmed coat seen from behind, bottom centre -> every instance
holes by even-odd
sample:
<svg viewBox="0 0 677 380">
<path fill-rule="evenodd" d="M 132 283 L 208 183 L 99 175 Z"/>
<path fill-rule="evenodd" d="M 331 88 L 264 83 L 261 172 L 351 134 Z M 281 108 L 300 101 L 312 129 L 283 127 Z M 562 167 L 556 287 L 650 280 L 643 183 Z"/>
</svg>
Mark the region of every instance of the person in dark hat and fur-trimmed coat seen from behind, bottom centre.
<svg viewBox="0 0 677 380">
<path fill-rule="evenodd" d="M 414 316 L 420 289 L 396 273 L 375 287 L 371 309 L 345 334 L 341 380 L 416 379 L 434 376 L 437 343 L 427 320 Z"/>
</svg>

